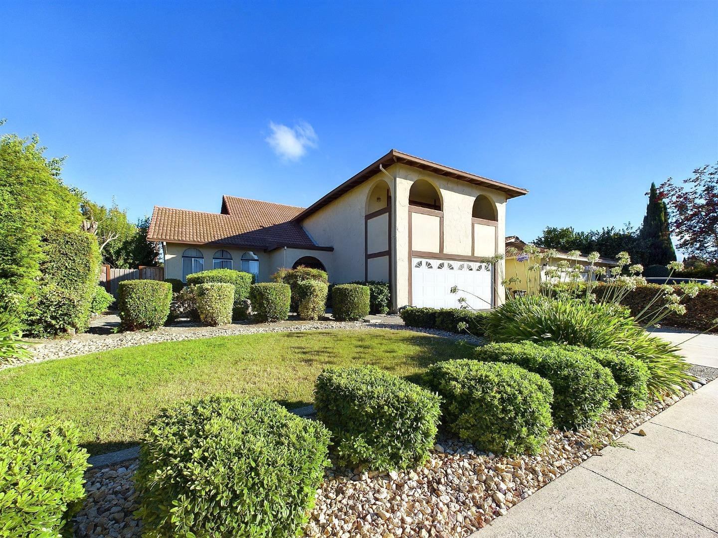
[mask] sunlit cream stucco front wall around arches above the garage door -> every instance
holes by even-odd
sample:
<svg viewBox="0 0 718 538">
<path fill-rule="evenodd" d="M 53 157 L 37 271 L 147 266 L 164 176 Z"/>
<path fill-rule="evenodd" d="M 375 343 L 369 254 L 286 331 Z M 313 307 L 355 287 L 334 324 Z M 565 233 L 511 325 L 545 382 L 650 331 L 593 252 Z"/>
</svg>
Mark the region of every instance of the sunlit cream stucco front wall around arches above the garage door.
<svg viewBox="0 0 718 538">
<path fill-rule="evenodd" d="M 396 187 L 392 199 L 396 211 L 396 242 L 393 248 L 396 260 L 396 303 L 394 308 L 409 303 L 409 189 L 417 179 L 426 179 L 439 190 L 444 212 L 444 253 L 471 255 L 471 213 L 474 200 L 479 194 L 485 194 L 496 205 L 498 215 L 498 237 L 505 236 L 506 198 L 502 192 L 479 187 L 438 176 L 431 172 L 411 168 L 410 166 L 394 165 L 388 171 L 396 178 Z M 416 214 L 412 218 L 416 217 Z M 414 250 L 416 248 L 416 231 L 412 235 Z M 498 253 L 504 254 L 504 242 L 498 242 Z M 493 254 L 493 253 L 492 253 Z M 503 262 L 500 264 L 503 273 Z M 498 287 L 498 301 L 503 302 L 503 288 Z"/>
</svg>

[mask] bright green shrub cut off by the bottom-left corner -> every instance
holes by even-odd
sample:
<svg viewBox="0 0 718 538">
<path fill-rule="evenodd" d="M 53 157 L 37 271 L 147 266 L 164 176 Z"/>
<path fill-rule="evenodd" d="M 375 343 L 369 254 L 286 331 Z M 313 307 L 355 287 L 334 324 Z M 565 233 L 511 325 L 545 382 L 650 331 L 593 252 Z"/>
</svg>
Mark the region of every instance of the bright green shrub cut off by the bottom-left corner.
<svg viewBox="0 0 718 538">
<path fill-rule="evenodd" d="M 52 418 L 0 423 L 0 536 L 73 536 L 89 467 L 79 438 Z"/>
</svg>

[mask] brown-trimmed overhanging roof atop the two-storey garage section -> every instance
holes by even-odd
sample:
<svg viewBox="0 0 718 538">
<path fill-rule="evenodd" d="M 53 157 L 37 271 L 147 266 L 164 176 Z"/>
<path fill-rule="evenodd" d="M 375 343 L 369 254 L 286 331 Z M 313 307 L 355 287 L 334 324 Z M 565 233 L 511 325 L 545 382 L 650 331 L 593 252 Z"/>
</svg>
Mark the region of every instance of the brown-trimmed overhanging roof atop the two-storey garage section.
<svg viewBox="0 0 718 538">
<path fill-rule="evenodd" d="M 488 187 L 489 189 L 503 192 L 506 195 L 507 199 L 516 198 L 518 196 L 528 194 L 528 191 L 526 189 L 513 187 L 512 185 L 500 183 L 500 181 L 494 181 L 493 179 L 477 176 L 475 174 L 469 174 L 465 171 L 457 170 L 455 168 L 449 168 L 449 166 L 437 164 L 432 161 L 427 161 L 426 159 L 421 159 L 413 155 L 404 154 L 401 151 L 396 151 L 396 149 L 392 149 L 381 159 L 378 159 L 378 161 L 373 162 L 365 169 L 360 171 L 358 174 L 342 183 L 332 192 L 330 192 L 329 194 L 325 194 L 325 196 L 318 199 L 317 202 L 314 202 L 314 204 L 307 207 L 307 209 L 304 209 L 304 211 L 297 216 L 297 220 L 302 220 L 304 219 L 304 217 L 308 217 L 310 214 L 316 212 L 322 207 L 325 207 L 325 205 L 342 196 L 342 194 L 345 194 L 346 192 L 350 191 L 358 184 L 361 184 L 367 179 L 370 179 L 372 176 L 375 176 L 381 171 L 381 169 L 379 168 L 380 166 L 391 166 L 392 164 L 406 164 L 406 166 L 412 166 L 421 170 L 430 171 L 434 174 L 439 174 L 440 176 L 447 176 L 452 179 L 459 179 L 460 181 L 467 181 L 467 183 L 480 185 L 481 187 Z"/>
</svg>

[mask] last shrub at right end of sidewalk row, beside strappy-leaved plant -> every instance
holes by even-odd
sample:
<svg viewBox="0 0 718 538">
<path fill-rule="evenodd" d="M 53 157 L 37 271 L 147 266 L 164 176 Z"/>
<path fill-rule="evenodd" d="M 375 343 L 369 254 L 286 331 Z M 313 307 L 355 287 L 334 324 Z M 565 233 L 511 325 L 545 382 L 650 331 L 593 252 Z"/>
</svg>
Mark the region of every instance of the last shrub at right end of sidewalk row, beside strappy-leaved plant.
<svg viewBox="0 0 718 538">
<path fill-rule="evenodd" d="M 567 346 L 555 342 L 544 342 L 542 346 L 561 346 L 562 349 L 594 359 L 601 366 L 610 369 L 618 392 L 611 402 L 616 409 L 645 409 L 648 404 L 648 367 L 639 359 L 627 353 L 611 349 L 589 349 L 581 346 Z"/>
</svg>

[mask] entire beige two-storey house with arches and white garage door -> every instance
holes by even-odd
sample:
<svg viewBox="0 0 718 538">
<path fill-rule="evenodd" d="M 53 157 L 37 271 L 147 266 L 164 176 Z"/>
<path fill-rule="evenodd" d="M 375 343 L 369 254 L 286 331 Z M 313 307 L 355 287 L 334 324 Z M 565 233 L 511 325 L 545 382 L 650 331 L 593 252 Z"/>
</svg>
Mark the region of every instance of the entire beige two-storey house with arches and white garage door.
<svg viewBox="0 0 718 538">
<path fill-rule="evenodd" d="M 388 282 L 394 311 L 459 306 L 453 285 L 488 308 L 503 271 L 485 260 L 504 253 L 506 201 L 526 192 L 391 150 L 306 209 L 230 196 L 220 213 L 155 207 L 147 238 L 166 278 L 225 267 L 261 282 L 307 265 L 333 283 Z"/>
</svg>

